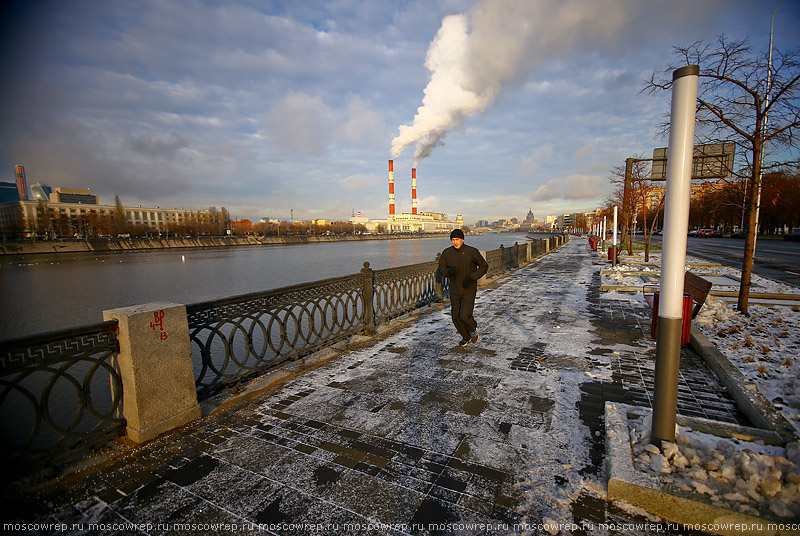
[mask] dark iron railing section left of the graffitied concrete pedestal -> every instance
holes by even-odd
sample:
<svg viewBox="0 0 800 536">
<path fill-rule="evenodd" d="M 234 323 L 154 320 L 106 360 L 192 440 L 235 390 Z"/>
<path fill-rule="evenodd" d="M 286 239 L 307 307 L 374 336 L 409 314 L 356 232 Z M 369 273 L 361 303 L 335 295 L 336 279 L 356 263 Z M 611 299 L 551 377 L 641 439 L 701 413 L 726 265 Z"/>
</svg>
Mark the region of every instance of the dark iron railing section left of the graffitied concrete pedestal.
<svg viewBox="0 0 800 536">
<path fill-rule="evenodd" d="M 78 458 L 123 435 L 116 330 L 110 321 L 0 343 L 7 474 Z"/>
</svg>

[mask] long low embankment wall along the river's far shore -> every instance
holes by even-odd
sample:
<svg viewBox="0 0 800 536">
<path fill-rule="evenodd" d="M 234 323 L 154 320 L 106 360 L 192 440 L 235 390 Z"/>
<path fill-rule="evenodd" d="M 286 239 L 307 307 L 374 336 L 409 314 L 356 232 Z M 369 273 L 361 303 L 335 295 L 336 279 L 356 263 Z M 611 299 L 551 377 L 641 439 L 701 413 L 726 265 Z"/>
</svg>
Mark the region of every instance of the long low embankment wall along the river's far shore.
<svg viewBox="0 0 800 536">
<path fill-rule="evenodd" d="M 321 235 L 321 236 L 232 236 L 209 238 L 135 238 L 101 240 L 39 240 L 5 242 L 0 245 L 0 255 L 35 255 L 53 253 L 107 253 L 115 251 L 151 251 L 160 249 L 206 249 L 242 246 L 289 246 L 326 242 L 364 242 L 368 240 L 411 240 L 442 238 L 447 233 L 425 234 L 374 234 L 374 235 Z"/>
</svg>

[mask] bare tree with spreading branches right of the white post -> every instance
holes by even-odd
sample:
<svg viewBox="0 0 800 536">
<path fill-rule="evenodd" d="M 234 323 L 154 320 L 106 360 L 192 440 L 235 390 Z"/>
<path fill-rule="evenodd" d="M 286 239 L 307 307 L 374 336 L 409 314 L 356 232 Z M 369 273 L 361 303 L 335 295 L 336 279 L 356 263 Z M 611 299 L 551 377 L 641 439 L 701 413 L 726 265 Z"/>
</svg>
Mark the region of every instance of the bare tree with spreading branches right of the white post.
<svg viewBox="0 0 800 536">
<path fill-rule="evenodd" d="M 710 142 L 736 142 L 737 152 L 745 159 L 739 173 L 747 182 L 747 236 L 737 308 L 747 314 L 762 173 L 764 169 L 798 162 L 796 157 L 786 156 L 796 154 L 794 150 L 798 148 L 798 52 L 776 50 L 773 57 L 772 51 L 763 54 L 752 51 L 746 39 L 728 41 L 723 35 L 713 47 L 699 41 L 688 47 L 676 47 L 674 55 L 679 64 L 654 72 L 644 90 L 650 93 L 668 90 L 672 86 L 671 73 L 676 68 L 699 65 L 698 134 Z M 780 155 L 784 155 L 783 159 Z M 764 164 L 767 159 L 769 163 Z"/>
</svg>

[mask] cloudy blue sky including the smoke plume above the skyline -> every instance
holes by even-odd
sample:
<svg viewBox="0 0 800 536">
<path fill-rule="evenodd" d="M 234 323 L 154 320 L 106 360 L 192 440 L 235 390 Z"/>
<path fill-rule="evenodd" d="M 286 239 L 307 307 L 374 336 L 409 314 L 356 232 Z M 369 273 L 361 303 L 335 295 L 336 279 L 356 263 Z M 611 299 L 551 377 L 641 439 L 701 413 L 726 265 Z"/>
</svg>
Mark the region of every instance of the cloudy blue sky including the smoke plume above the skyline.
<svg viewBox="0 0 800 536">
<path fill-rule="evenodd" d="M 769 45 L 778 0 L 6 2 L 0 180 L 236 219 L 602 206 L 666 147 L 674 46 Z M 800 0 L 774 46 L 800 48 Z"/>
</svg>

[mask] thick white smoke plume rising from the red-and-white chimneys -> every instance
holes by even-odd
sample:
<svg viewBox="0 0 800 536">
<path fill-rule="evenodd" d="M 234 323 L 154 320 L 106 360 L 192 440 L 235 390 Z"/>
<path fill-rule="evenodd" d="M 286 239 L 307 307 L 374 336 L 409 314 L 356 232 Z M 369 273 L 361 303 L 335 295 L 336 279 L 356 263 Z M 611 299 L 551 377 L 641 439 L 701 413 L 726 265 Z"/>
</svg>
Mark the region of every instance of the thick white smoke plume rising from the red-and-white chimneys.
<svg viewBox="0 0 800 536">
<path fill-rule="evenodd" d="M 414 165 L 442 145 L 447 131 L 494 102 L 504 85 L 526 79 L 544 61 L 611 40 L 626 26 L 633 0 L 479 0 L 442 19 L 425 67 L 431 79 L 411 125 L 400 125 L 392 158 L 415 144 Z"/>
</svg>

